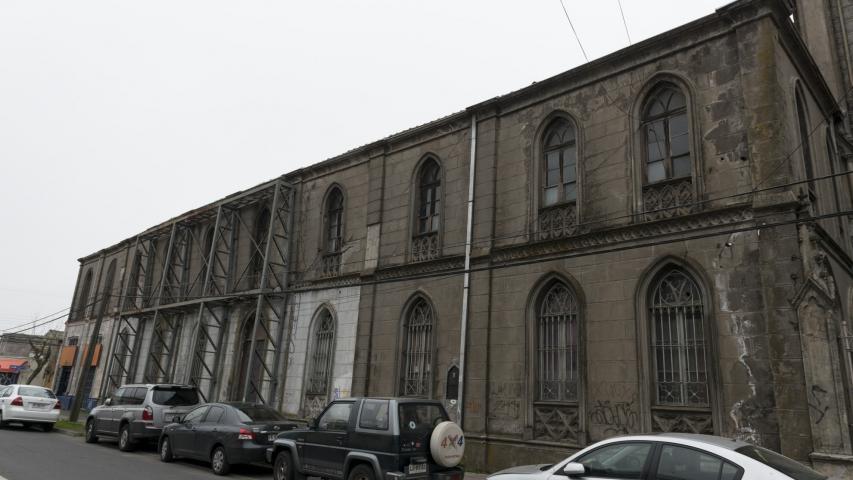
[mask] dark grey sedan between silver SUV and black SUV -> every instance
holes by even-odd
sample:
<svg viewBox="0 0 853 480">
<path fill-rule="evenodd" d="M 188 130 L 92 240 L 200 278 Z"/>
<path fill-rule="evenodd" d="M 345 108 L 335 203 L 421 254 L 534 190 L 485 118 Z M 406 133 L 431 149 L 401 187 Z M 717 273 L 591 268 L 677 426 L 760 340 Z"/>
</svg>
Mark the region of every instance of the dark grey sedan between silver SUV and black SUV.
<svg viewBox="0 0 853 480">
<path fill-rule="evenodd" d="M 163 429 L 160 460 L 206 460 L 213 473 L 226 475 L 231 465 L 264 463 L 264 451 L 275 437 L 296 426 L 265 405 L 207 403 Z"/>
</svg>

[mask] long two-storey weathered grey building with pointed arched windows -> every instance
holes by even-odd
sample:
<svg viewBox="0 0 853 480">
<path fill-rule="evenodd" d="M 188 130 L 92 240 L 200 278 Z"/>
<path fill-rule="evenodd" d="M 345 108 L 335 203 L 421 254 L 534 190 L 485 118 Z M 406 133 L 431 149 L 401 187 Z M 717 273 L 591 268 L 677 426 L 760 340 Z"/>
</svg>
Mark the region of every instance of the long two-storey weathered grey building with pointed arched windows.
<svg viewBox="0 0 853 480">
<path fill-rule="evenodd" d="M 851 19 L 737 1 L 85 257 L 93 391 L 438 398 L 475 470 L 679 431 L 844 478 Z"/>
</svg>

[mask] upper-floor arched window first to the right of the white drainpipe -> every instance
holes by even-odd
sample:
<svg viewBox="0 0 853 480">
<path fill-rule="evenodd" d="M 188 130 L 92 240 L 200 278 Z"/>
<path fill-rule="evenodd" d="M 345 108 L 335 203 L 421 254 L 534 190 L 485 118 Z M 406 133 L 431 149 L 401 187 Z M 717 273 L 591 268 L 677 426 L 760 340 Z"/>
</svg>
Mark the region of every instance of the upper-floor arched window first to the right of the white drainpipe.
<svg viewBox="0 0 853 480">
<path fill-rule="evenodd" d="M 542 137 L 542 206 L 578 198 L 575 127 L 565 118 L 553 120 Z"/>
</svg>

